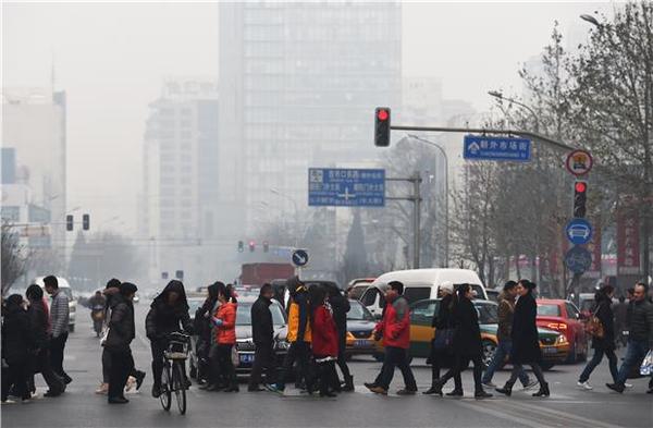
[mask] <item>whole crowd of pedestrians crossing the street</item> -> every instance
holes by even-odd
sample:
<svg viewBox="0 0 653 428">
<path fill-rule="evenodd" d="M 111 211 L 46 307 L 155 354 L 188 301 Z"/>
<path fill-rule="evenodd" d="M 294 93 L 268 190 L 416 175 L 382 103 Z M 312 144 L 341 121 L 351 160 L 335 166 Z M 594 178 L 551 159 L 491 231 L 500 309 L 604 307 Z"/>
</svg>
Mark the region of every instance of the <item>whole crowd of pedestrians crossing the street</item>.
<svg viewBox="0 0 653 428">
<path fill-rule="evenodd" d="M 63 368 L 67 340 L 69 302 L 59 291 L 56 277 L 44 279 L 45 291 L 51 296 L 48 304 L 44 290 L 34 284 L 25 294 L 12 294 L 2 303 L 2 403 L 11 403 L 10 395 L 29 402 L 36 388 L 34 376 L 40 372 L 48 386 L 46 396 L 62 394 L 72 378 Z M 354 378 L 346 363 L 347 313 L 349 301 L 335 284 L 310 284 L 298 277 L 291 278 L 286 288 L 288 301 L 281 302 L 287 311 L 288 348 L 283 362 L 275 362 L 273 317 L 270 310 L 275 292 L 270 284 L 260 288 L 257 301 L 251 305 L 251 329 L 255 358 L 248 391 L 273 391 L 283 393 L 294 377 L 295 386 L 307 393 L 335 396 L 342 391 L 354 391 Z M 469 284 L 454 285 L 444 282 L 439 286 L 440 305 L 432 326 L 435 334 L 427 363 L 431 365 L 431 387 L 423 393 L 442 396 L 448 380 L 454 380 L 449 396 L 463 396 L 461 372 L 473 364 L 475 398 L 492 396 L 485 389 L 494 389 L 506 396 L 519 380 L 525 390 L 539 384 L 532 395 L 550 396 L 549 383 L 542 370 L 537 327 L 537 285 L 528 280 L 508 281 L 498 296 L 497 347 L 491 363 L 485 367 L 479 328 L 478 313 Z M 383 339 L 384 360 L 381 371 L 372 382 L 366 382 L 370 391 L 387 394 L 395 368 L 399 368 L 404 388 L 398 395 L 412 395 L 418 391 L 410 368 L 409 305 L 404 297 L 404 285 L 398 281 L 385 285 L 386 304 L 380 322 L 373 330 L 377 340 Z M 96 391 L 107 394 L 111 404 L 124 404 L 124 392 L 138 390 L 146 377 L 135 367 L 131 343 L 136 337 L 133 299 L 137 286 L 112 279 L 94 298 L 94 310 L 103 306 L 101 317 L 101 372 L 102 382 Z M 615 290 L 604 285 L 595 294 L 595 305 L 588 321 L 594 354 L 578 378 L 578 387 L 592 390 L 589 379 L 594 369 L 607 357 L 613 382 L 606 387 L 623 393 L 629 384 L 626 380 L 650 350 L 653 350 L 653 303 L 648 297 L 648 285 L 637 283 L 630 290 L 626 304 L 620 299 L 613 304 Z M 146 334 L 151 347 L 151 394 L 162 393 L 161 375 L 164 352 L 170 335 L 184 331 L 197 337 L 197 378 L 207 391 L 238 392 L 235 364 L 237 294 L 234 286 L 215 282 L 207 288 L 204 304 L 197 309 L 195 320 L 189 317 L 189 306 L 184 284 L 173 280 L 152 301 L 145 319 Z M 628 333 L 623 333 L 627 331 Z M 626 339 L 621 339 L 625 335 Z M 621 367 L 615 354 L 618 341 L 626 343 Z M 492 382 L 497 369 L 506 360 L 513 368 L 509 379 L 501 388 Z M 278 372 L 276 367 L 281 370 Z M 535 379 L 531 379 L 523 366 L 530 366 Z M 342 380 L 336 371 L 342 372 Z M 448 370 L 441 376 L 443 367 Z M 185 370 L 184 370 L 185 371 Z M 264 380 L 263 380 L 264 375 Z M 185 376 L 185 375 L 184 375 Z M 190 381 L 185 379 L 186 388 Z M 649 384 L 653 393 L 653 378 Z"/>
</svg>

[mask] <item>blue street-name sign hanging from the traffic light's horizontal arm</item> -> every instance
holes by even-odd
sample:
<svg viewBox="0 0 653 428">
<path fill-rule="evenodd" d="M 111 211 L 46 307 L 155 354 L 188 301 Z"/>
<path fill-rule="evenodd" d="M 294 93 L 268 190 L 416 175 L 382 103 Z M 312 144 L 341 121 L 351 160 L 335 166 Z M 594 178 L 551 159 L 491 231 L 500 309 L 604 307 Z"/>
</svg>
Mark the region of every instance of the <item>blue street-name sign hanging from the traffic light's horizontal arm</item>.
<svg viewBox="0 0 653 428">
<path fill-rule="evenodd" d="M 531 140 L 527 138 L 465 135 L 463 157 L 470 160 L 530 160 Z"/>
</svg>

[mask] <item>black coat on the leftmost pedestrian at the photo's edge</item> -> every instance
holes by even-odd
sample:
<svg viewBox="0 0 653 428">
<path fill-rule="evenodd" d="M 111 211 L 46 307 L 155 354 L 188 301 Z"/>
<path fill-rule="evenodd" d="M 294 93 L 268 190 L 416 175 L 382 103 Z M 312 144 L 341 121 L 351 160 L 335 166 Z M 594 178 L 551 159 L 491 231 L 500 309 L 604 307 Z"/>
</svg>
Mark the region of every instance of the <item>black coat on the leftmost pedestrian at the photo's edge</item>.
<svg viewBox="0 0 653 428">
<path fill-rule="evenodd" d="M 11 305 L 4 310 L 2 321 L 2 356 L 9 365 L 21 364 L 34 347 L 29 317 L 22 306 Z"/>
</svg>

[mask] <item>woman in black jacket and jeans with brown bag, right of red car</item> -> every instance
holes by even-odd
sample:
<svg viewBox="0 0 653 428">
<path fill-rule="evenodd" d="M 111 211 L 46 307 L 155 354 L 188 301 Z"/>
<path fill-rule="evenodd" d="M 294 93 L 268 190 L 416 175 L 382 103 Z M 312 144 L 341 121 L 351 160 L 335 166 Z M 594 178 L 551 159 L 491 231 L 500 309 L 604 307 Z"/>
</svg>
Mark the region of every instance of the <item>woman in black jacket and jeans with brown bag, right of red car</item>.
<svg viewBox="0 0 653 428">
<path fill-rule="evenodd" d="M 594 348 L 594 356 L 588 363 L 586 368 L 582 370 L 580 378 L 578 378 L 578 387 L 591 390 L 592 387 L 588 382 L 590 375 L 603 360 L 603 355 L 607 356 L 609 372 L 613 377 L 613 381 L 617 381 L 618 368 L 617 368 L 617 356 L 615 355 L 615 325 L 614 314 L 612 310 L 612 297 L 615 294 L 615 289 L 612 285 L 604 285 L 594 295 L 594 316 L 599 318 L 603 326 L 603 337 L 592 338 L 592 347 Z"/>
</svg>

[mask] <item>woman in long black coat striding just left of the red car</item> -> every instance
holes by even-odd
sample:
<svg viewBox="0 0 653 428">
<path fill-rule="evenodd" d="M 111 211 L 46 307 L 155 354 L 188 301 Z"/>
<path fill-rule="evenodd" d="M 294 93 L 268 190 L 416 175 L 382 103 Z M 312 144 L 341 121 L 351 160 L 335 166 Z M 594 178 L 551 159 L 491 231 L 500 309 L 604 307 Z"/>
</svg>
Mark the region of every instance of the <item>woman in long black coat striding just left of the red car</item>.
<svg viewBox="0 0 653 428">
<path fill-rule="evenodd" d="M 540 339 L 538 334 L 538 304 L 533 297 L 535 283 L 521 280 L 517 284 L 517 305 L 515 306 L 515 315 L 513 317 L 513 348 L 510 350 L 510 360 L 513 363 L 513 372 L 510 379 L 503 388 L 497 388 L 496 392 L 510 396 L 513 386 L 519 377 L 519 371 L 523 369 L 523 365 L 528 364 L 533 370 L 533 375 L 540 382 L 540 390 L 533 396 L 549 396 L 549 383 L 544 379 L 542 367 L 542 352 L 540 351 Z"/>
</svg>

